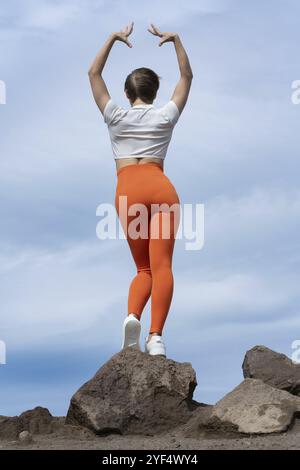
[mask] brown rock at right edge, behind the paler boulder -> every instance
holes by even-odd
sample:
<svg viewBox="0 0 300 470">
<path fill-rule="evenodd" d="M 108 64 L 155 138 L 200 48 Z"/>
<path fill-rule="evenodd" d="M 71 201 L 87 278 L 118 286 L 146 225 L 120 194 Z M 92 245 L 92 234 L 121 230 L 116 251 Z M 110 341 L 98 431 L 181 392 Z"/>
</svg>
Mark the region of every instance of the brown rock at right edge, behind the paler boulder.
<svg viewBox="0 0 300 470">
<path fill-rule="evenodd" d="M 265 346 L 255 346 L 247 351 L 242 367 L 245 378 L 260 379 L 300 396 L 300 364 L 294 364 L 284 354 Z"/>
</svg>

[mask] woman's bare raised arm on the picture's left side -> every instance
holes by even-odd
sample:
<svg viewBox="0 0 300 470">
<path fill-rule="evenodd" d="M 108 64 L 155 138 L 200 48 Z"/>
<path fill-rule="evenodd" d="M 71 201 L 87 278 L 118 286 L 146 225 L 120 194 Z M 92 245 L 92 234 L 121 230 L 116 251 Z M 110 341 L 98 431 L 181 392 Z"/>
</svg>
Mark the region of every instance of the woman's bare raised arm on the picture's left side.
<svg viewBox="0 0 300 470">
<path fill-rule="evenodd" d="M 106 103 L 110 99 L 110 94 L 102 77 L 103 68 L 115 41 L 122 41 L 127 44 L 128 47 L 132 47 L 132 44 L 128 41 L 128 36 L 131 34 L 132 30 L 133 22 L 119 33 L 110 34 L 89 68 L 88 75 L 93 96 L 102 114 Z"/>
</svg>

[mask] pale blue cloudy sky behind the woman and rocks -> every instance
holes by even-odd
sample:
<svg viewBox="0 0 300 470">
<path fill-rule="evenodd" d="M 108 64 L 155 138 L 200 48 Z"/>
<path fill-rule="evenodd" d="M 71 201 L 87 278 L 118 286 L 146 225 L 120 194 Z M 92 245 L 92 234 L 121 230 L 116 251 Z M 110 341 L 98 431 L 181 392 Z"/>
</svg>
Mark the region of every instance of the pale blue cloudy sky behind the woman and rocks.
<svg viewBox="0 0 300 470">
<path fill-rule="evenodd" d="M 116 171 L 88 69 L 134 21 L 103 71 L 124 107 L 126 76 L 179 79 L 175 31 L 193 82 L 165 160 L 182 203 L 204 204 L 204 245 L 176 241 L 167 356 L 195 369 L 194 399 L 215 403 L 243 380 L 247 350 L 291 357 L 300 339 L 300 4 L 296 0 L 11 0 L 0 5 L 0 415 L 65 415 L 73 393 L 121 349 L 136 270 L 124 239 L 96 236 Z M 1 101 L 1 100 L 0 100 Z M 141 344 L 150 326 L 142 316 Z"/>
</svg>

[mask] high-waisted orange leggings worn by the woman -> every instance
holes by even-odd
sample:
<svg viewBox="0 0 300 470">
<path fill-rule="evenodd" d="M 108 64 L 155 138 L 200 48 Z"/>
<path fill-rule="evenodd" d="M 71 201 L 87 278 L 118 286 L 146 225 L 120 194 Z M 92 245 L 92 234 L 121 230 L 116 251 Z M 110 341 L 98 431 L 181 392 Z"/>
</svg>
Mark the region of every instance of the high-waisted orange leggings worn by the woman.
<svg viewBox="0 0 300 470">
<path fill-rule="evenodd" d="M 121 203 L 126 198 L 120 196 L 127 197 L 127 210 L 123 210 Z M 135 208 L 130 212 L 130 206 L 137 203 L 143 204 L 143 210 Z M 158 209 L 152 204 L 162 206 Z M 162 334 L 172 301 L 172 257 L 179 204 L 174 186 L 158 163 L 130 164 L 117 171 L 115 207 L 137 268 L 129 288 L 128 315 L 134 313 L 140 319 L 151 296 L 149 333 Z M 169 212 L 163 206 L 169 207 Z M 143 228 L 137 219 L 142 220 Z"/>
</svg>

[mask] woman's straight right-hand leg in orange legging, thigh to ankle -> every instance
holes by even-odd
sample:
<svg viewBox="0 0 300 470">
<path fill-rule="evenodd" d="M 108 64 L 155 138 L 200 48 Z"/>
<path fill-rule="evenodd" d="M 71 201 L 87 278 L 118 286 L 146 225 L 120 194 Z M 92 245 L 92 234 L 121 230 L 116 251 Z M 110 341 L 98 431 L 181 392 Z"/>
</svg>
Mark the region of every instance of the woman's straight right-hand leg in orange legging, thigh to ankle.
<svg viewBox="0 0 300 470">
<path fill-rule="evenodd" d="M 167 233 L 169 237 L 164 238 L 162 228 L 165 224 L 164 217 L 169 218 L 170 230 Z M 178 217 L 178 213 L 177 213 Z M 152 293 L 151 293 L 151 326 L 149 333 L 162 334 L 162 330 L 170 309 L 174 278 L 172 272 L 172 257 L 175 244 L 175 236 L 178 228 L 178 218 L 174 213 L 164 214 L 156 212 L 151 218 L 151 232 L 157 235 L 151 235 L 149 243 L 150 266 L 152 272 Z M 168 225 L 167 223 L 167 225 Z M 156 228 L 155 228 L 156 227 Z M 166 235 L 165 235 L 166 236 Z"/>
</svg>

